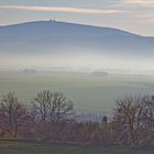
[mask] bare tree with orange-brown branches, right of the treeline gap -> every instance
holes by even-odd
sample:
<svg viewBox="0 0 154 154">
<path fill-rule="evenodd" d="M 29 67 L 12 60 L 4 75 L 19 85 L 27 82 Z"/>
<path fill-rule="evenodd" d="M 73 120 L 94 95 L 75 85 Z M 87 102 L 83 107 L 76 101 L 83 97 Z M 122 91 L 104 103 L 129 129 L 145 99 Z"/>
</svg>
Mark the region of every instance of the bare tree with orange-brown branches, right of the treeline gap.
<svg viewBox="0 0 154 154">
<path fill-rule="evenodd" d="M 148 96 L 125 96 L 116 99 L 114 109 L 114 133 L 120 144 L 138 145 L 140 132 L 144 128 L 143 116 Z"/>
</svg>

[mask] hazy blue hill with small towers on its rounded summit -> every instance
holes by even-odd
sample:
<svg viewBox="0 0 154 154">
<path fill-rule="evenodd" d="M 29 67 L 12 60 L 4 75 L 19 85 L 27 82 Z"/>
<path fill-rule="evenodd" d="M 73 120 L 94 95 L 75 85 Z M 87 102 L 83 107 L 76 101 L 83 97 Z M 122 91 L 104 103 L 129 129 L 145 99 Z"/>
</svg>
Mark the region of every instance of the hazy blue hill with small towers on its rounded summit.
<svg viewBox="0 0 154 154">
<path fill-rule="evenodd" d="M 44 58 L 55 55 L 57 57 L 61 55 L 62 57 L 70 55 L 86 57 L 87 55 L 88 57 L 89 54 L 109 58 L 151 58 L 154 56 L 154 37 L 141 36 L 118 29 L 57 21 L 0 26 L 1 57 L 8 55 L 12 56 L 11 59 L 13 56 L 25 59 L 28 55 L 32 57 L 40 55 Z M 50 62 L 47 58 L 46 62 Z M 62 58 L 58 59 L 58 62 L 62 61 Z M 66 65 L 72 65 L 68 62 L 69 59 Z M 82 63 L 87 65 L 89 62 L 90 59 L 88 62 L 82 59 Z"/>
</svg>

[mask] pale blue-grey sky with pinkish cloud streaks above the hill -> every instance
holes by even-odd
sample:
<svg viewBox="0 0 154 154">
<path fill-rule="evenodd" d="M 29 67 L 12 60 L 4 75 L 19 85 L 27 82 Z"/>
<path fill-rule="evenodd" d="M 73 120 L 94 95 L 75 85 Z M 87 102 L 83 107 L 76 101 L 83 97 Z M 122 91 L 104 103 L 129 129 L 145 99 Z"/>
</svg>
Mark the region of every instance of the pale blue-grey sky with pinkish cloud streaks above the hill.
<svg viewBox="0 0 154 154">
<path fill-rule="evenodd" d="M 0 25 L 50 19 L 154 35 L 154 0 L 0 0 Z"/>
</svg>

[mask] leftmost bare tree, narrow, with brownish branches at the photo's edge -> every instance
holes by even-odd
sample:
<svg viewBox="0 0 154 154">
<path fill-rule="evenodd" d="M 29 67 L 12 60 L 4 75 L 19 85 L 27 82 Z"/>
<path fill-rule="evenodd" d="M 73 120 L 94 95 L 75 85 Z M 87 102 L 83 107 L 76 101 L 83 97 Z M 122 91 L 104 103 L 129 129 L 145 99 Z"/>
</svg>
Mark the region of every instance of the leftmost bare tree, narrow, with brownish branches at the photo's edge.
<svg viewBox="0 0 154 154">
<path fill-rule="evenodd" d="M 18 138 L 20 128 L 26 122 L 29 117 L 28 108 L 19 101 L 14 92 L 2 96 L 0 103 L 1 129 Z"/>
</svg>

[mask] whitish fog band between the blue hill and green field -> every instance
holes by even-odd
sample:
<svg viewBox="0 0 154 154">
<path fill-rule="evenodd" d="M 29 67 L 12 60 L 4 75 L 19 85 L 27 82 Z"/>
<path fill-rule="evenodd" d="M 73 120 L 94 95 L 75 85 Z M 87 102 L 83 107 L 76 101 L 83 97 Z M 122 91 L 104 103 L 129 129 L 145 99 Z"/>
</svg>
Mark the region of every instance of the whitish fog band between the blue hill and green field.
<svg viewBox="0 0 154 154">
<path fill-rule="evenodd" d="M 61 53 L 37 55 L 1 55 L 0 69 L 64 69 L 73 72 L 92 72 L 101 69 L 154 70 L 153 58 L 120 57 L 102 54 Z"/>
</svg>

